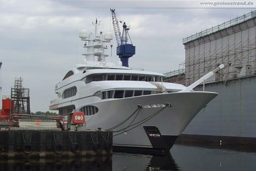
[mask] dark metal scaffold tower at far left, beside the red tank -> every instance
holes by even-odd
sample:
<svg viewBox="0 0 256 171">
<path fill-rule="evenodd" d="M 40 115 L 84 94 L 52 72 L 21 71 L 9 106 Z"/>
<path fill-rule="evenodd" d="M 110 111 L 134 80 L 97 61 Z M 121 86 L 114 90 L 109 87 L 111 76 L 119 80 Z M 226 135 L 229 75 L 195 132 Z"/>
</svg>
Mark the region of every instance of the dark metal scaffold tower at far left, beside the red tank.
<svg viewBox="0 0 256 171">
<path fill-rule="evenodd" d="M 11 104 L 11 114 L 30 114 L 30 89 L 22 87 L 22 78 L 11 87 Z"/>
</svg>

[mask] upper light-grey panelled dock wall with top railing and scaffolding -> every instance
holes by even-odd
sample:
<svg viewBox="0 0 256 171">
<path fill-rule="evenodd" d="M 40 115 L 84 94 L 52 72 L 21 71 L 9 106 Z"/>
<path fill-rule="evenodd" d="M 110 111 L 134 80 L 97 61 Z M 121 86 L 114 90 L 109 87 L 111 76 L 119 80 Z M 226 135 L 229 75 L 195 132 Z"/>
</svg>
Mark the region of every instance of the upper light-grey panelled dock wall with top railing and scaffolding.
<svg viewBox="0 0 256 171">
<path fill-rule="evenodd" d="M 176 79 L 176 83 L 189 86 L 220 64 L 224 64 L 225 68 L 215 73 L 207 80 L 208 82 L 226 82 L 238 77 L 255 75 L 255 21 L 256 11 L 252 11 L 211 30 L 183 39 L 186 59 L 180 66 L 185 68 L 184 76 L 166 73 L 165 81 L 175 82 Z"/>
</svg>

